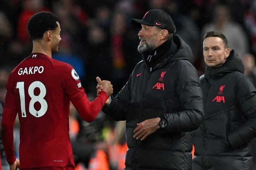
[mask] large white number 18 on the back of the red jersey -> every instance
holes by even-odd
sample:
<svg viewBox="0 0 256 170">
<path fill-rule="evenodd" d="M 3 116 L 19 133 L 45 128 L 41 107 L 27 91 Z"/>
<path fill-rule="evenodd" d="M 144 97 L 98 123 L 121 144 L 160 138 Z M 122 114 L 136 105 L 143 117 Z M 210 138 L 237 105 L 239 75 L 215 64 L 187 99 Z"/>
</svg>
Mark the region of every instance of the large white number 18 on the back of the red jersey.
<svg viewBox="0 0 256 170">
<path fill-rule="evenodd" d="M 40 89 L 40 93 L 38 96 L 34 94 L 34 89 L 38 87 Z M 17 82 L 16 88 L 19 88 L 19 95 L 20 95 L 20 107 L 21 107 L 21 114 L 22 117 L 27 117 L 26 114 L 26 108 L 25 108 L 25 90 L 24 90 L 24 82 Z M 31 97 L 31 100 L 29 102 L 29 112 L 32 114 L 34 117 L 41 117 L 43 116 L 47 109 L 48 109 L 48 104 L 46 100 L 44 99 L 46 95 L 46 88 L 45 85 L 42 82 L 35 81 L 30 84 L 29 86 L 29 96 Z M 34 104 L 35 102 L 39 102 L 41 105 L 40 110 L 35 110 Z"/>
</svg>

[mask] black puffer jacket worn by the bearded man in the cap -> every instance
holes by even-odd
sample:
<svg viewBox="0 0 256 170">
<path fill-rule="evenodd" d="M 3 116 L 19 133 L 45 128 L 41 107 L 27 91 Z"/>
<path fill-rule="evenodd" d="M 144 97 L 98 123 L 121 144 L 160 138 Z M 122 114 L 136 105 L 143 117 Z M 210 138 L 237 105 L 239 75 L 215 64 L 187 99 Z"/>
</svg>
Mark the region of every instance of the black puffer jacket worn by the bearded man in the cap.
<svg viewBox="0 0 256 170">
<path fill-rule="evenodd" d="M 140 61 L 110 106 L 103 107 L 110 118 L 126 120 L 125 170 L 191 169 L 191 132 L 203 121 L 199 76 L 187 59 L 189 46 L 178 35 L 164 55 L 152 71 Z M 133 138 L 137 123 L 160 116 L 168 121 L 164 131 L 143 141 Z"/>
</svg>

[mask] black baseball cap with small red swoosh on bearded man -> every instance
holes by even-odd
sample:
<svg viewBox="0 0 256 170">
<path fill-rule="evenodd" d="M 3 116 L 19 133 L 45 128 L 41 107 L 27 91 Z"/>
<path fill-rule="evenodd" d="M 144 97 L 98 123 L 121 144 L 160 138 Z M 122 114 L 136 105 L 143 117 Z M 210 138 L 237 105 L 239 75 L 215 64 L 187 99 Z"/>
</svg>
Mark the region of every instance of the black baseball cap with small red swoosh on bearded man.
<svg viewBox="0 0 256 170">
<path fill-rule="evenodd" d="M 131 24 L 141 28 L 141 24 L 156 26 L 167 30 L 169 33 L 175 33 L 176 27 L 171 16 L 164 10 L 149 10 L 142 19 L 132 19 Z"/>
</svg>

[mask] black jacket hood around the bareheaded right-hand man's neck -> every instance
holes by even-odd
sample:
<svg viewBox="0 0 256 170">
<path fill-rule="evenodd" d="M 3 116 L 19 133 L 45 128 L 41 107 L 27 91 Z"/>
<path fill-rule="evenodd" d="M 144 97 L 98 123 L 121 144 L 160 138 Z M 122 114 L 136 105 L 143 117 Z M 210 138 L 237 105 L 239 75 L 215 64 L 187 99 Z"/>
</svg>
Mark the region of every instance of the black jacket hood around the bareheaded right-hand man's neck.
<svg viewBox="0 0 256 170">
<path fill-rule="evenodd" d="M 206 79 L 215 79 L 230 72 L 244 73 L 244 65 L 235 50 L 231 50 L 227 61 L 220 67 L 206 67 L 204 76 Z"/>
</svg>

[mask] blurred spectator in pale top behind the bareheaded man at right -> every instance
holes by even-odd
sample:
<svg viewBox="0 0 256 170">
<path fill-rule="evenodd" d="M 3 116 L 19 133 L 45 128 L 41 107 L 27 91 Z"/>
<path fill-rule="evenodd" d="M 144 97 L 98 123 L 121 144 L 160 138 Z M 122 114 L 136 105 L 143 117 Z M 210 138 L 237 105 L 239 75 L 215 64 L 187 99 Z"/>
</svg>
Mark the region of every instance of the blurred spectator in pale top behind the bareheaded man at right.
<svg viewBox="0 0 256 170">
<path fill-rule="evenodd" d="M 248 39 L 244 29 L 239 23 L 230 20 L 231 13 L 229 7 L 217 5 L 214 8 L 213 19 L 202 29 L 202 35 L 208 31 L 219 31 L 226 35 L 229 48 L 235 49 L 241 57 L 248 52 Z"/>
</svg>

